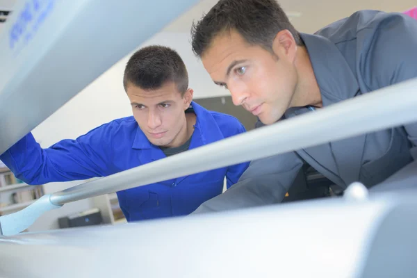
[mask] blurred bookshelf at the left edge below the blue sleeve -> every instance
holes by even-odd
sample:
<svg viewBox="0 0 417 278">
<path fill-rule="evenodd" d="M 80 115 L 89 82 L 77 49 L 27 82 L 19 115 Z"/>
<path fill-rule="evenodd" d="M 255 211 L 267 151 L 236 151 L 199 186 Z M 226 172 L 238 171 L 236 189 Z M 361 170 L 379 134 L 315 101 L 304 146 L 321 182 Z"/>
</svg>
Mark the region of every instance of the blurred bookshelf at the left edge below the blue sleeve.
<svg viewBox="0 0 417 278">
<path fill-rule="evenodd" d="M 2 164 L 2 163 L 1 163 Z M 44 195 L 43 186 L 29 186 L 7 167 L 0 167 L 0 215 L 20 211 Z"/>
</svg>

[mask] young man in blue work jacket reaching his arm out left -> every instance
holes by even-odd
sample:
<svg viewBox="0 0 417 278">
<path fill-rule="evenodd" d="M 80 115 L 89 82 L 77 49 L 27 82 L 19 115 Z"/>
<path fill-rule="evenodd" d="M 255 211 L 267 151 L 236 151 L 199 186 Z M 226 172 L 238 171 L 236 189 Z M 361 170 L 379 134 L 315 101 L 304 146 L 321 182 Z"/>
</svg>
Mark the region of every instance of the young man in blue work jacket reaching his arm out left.
<svg viewBox="0 0 417 278">
<path fill-rule="evenodd" d="M 230 115 L 207 111 L 193 99 L 186 66 L 176 51 L 137 51 L 124 71 L 133 117 L 93 129 L 76 140 L 42 149 L 28 134 L 0 156 L 29 184 L 104 177 L 245 131 Z M 204 159 L 204 158 L 202 158 Z M 248 163 L 179 177 L 117 193 L 128 221 L 186 215 L 238 181 Z M 169 169 L 167 169 L 169 171 Z"/>
</svg>

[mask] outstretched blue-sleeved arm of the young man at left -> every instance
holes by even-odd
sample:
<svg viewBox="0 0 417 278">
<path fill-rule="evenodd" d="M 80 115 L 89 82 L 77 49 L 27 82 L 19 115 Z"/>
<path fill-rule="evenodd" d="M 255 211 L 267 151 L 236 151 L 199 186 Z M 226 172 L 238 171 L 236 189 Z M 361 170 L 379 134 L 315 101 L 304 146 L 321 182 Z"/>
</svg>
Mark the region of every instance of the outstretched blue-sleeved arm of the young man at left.
<svg viewBox="0 0 417 278">
<path fill-rule="evenodd" d="M 29 133 L 1 154 L 0 160 L 28 184 L 102 177 L 111 161 L 110 142 L 108 124 L 47 149 L 42 149 Z"/>
</svg>

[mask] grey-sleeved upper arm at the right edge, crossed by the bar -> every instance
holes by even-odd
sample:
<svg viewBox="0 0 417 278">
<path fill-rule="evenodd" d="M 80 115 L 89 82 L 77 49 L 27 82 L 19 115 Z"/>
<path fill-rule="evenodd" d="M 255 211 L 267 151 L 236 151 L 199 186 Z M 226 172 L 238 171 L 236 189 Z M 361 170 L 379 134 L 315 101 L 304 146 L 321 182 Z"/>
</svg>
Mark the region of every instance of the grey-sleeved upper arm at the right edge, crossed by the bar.
<svg viewBox="0 0 417 278">
<path fill-rule="evenodd" d="M 367 32 L 363 30 L 361 32 Z M 362 75 L 371 90 L 417 78 L 417 21 L 396 14 L 382 21 L 363 53 Z M 417 88 L 416 88 L 417 89 Z M 417 158 L 417 123 L 404 126 Z"/>
</svg>

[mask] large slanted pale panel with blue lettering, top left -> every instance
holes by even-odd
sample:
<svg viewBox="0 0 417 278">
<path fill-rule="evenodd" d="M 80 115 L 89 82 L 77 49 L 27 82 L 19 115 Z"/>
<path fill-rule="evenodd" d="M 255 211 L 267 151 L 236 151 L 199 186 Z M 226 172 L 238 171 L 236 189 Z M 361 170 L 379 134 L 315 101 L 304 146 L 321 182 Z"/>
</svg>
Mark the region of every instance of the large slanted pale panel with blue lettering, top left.
<svg viewBox="0 0 417 278">
<path fill-rule="evenodd" d="M 0 34 L 0 154 L 197 2 L 17 2 Z"/>
</svg>

